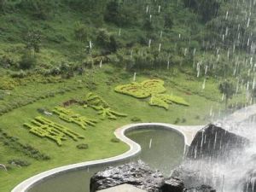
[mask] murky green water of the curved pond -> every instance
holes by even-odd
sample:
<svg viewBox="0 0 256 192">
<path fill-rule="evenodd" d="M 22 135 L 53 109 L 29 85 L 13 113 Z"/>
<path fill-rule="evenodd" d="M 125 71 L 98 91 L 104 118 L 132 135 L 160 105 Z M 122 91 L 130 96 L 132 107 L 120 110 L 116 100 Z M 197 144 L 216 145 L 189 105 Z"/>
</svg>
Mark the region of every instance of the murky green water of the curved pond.
<svg viewBox="0 0 256 192">
<path fill-rule="evenodd" d="M 142 153 L 131 160 L 123 160 L 108 166 L 140 159 L 168 176 L 183 160 L 184 139 L 177 131 L 149 127 L 129 131 L 125 135 L 141 145 Z M 92 166 L 90 169 L 61 173 L 34 185 L 28 192 L 89 192 L 90 177 L 106 167 Z"/>
</svg>

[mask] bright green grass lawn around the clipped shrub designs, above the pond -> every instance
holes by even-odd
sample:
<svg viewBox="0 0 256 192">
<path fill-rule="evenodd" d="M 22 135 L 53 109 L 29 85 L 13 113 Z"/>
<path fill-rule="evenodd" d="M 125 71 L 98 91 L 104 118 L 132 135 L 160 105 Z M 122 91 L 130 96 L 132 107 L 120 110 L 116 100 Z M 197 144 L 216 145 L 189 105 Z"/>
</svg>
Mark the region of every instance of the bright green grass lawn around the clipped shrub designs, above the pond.
<svg viewBox="0 0 256 192">
<path fill-rule="evenodd" d="M 54 142 L 48 139 L 33 136 L 28 132 L 28 130 L 26 130 L 26 128 L 22 126 L 22 124 L 29 122 L 34 117 L 40 115 L 37 112 L 38 108 L 52 109 L 62 102 L 66 102 L 70 98 L 85 96 L 88 92 L 90 92 L 90 90 L 88 90 L 83 83 L 86 79 L 88 79 L 88 76 L 76 76 L 64 83 L 56 84 L 30 83 L 26 84 L 26 86 L 18 86 L 15 88 L 15 90 L 10 90 L 14 94 L 7 96 L 2 103 L 7 104 L 9 102 L 15 102 L 16 99 L 19 99 L 19 91 L 20 96 L 24 97 L 24 95 L 33 96 L 33 94 L 38 94 L 37 91 L 44 94 L 44 92 L 49 90 L 58 88 L 62 89 L 63 86 L 72 86 L 72 84 L 77 84 L 77 82 L 80 82 L 80 84 L 83 85 L 79 89 L 74 89 L 65 92 L 64 94 L 55 94 L 55 96 L 48 97 L 46 99 L 40 99 L 37 102 L 17 108 L 0 116 L 0 125 L 4 131 L 8 132 L 11 136 L 19 137 L 21 143 L 30 143 L 33 147 L 38 148 L 45 154 L 49 154 L 51 157 L 51 160 L 49 161 L 33 160 L 32 158 L 24 156 L 20 152 L 16 152 L 13 149 L 3 146 L 3 143 L 0 143 L 1 163 L 7 164 L 7 161 L 10 159 L 27 160 L 32 163 L 31 166 L 26 168 L 13 167 L 11 170 L 9 170 L 9 172 L 1 171 L 0 191 L 8 192 L 10 189 L 14 188 L 16 184 L 20 183 L 27 177 L 31 177 L 39 172 L 44 172 L 57 166 L 65 166 L 86 160 L 107 158 L 124 153 L 128 149 L 124 143 L 112 143 L 110 140 L 113 138 L 113 131 L 122 125 L 130 124 L 131 118 L 133 117 L 142 119 L 143 122 L 163 122 L 171 124 L 173 124 L 178 118 L 181 119 L 179 121 L 180 125 L 201 125 L 207 123 L 207 116 L 210 113 L 211 108 L 215 112 L 218 112 L 219 108 L 223 108 L 223 105 L 219 102 L 207 100 L 207 98 L 204 96 L 188 94 L 186 91 L 178 89 L 177 87 L 173 86 L 173 84 L 168 83 L 167 80 L 167 93 L 175 96 L 182 96 L 187 102 L 190 103 L 190 107 L 173 104 L 170 106 L 169 110 L 166 111 L 164 108 L 150 107 L 147 103 L 148 99 L 139 100 L 134 97 L 121 95 L 113 91 L 113 88 L 118 84 L 130 83 L 132 76 L 132 74 L 117 71 L 117 69 L 113 69 L 113 67 L 109 66 L 102 67 L 102 69 L 96 69 L 96 74 L 93 76 L 93 79 L 97 83 L 97 88 L 94 90 L 94 92 L 109 102 L 113 109 L 121 113 L 127 113 L 129 116 L 126 118 L 118 118 L 117 120 L 100 120 L 99 123 L 96 124 L 96 127 L 90 127 L 86 131 L 84 131 L 78 125 L 72 123 L 68 124 L 62 121 L 55 115 L 51 116 L 49 119 L 59 122 L 61 125 L 66 125 L 73 131 L 83 134 L 85 137 L 84 141 L 81 142 L 73 142 L 71 139 L 64 141 L 62 147 L 58 147 Z M 150 75 L 137 75 L 137 81 L 142 81 L 143 79 L 149 78 L 152 77 Z M 183 79 L 183 82 L 181 82 L 180 78 L 180 84 L 187 84 L 186 82 L 186 79 Z M 198 84 L 201 83 L 198 82 Z M 212 89 L 214 87 L 213 85 L 214 84 L 212 83 Z M 215 85 L 215 93 L 217 95 L 218 85 Z M 193 86 L 191 86 L 191 89 L 194 89 Z M 76 105 L 73 105 L 70 108 L 72 108 L 73 111 L 81 113 L 90 118 L 99 119 L 99 116 L 93 109 L 82 108 Z M 89 148 L 86 150 L 79 150 L 76 148 L 78 143 L 88 143 Z"/>
</svg>

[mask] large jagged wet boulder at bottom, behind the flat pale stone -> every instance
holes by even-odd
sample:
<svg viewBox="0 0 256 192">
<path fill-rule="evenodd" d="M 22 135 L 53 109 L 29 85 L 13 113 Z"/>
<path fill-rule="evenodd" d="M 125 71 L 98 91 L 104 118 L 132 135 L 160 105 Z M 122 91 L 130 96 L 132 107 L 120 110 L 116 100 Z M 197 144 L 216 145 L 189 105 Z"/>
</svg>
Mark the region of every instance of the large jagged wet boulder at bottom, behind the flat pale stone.
<svg viewBox="0 0 256 192">
<path fill-rule="evenodd" d="M 156 192 L 160 191 L 164 183 L 164 177 L 160 172 L 151 171 L 143 162 L 108 167 L 107 170 L 97 172 L 90 178 L 90 192 L 125 183 Z"/>
</svg>

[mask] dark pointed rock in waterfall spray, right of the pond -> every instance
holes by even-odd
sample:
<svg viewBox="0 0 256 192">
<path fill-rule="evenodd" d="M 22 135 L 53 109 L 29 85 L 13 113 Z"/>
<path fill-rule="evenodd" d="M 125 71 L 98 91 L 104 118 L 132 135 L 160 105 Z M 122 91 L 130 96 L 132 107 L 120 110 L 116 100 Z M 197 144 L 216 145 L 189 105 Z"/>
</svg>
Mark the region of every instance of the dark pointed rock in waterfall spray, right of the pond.
<svg viewBox="0 0 256 192">
<path fill-rule="evenodd" d="M 244 148 L 249 141 L 245 137 L 225 131 L 216 125 L 207 125 L 195 136 L 189 147 L 187 157 L 191 159 L 225 158 L 232 149 Z"/>
</svg>

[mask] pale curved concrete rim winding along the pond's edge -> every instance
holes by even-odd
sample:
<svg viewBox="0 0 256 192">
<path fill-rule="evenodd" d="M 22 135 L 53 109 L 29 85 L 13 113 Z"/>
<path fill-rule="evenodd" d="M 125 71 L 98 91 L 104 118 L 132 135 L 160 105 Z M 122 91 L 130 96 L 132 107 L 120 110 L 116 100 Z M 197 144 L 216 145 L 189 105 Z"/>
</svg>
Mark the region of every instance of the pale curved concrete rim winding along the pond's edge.
<svg viewBox="0 0 256 192">
<path fill-rule="evenodd" d="M 130 150 L 125 152 L 124 154 L 120 154 L 118 156 L 103 159 L 103 160 L 92 160 L 83 163 L 73 164 L 69 166 L 61 166 L 47 172 L 39 173 L 36 176 L 30 177 L 26 179 L 24 182 L 20 183 L 13 189 L 11 192 L 26 192 L 28 189 L 32 188 L 33 185 L 42 182 L 44 179 L 48 177 L 53 177 L 61 172 L 69 172 L 75 169 L 86 168 L 95 165 L 103 165 L 108 164 L 114 161 L 125 160 L 135 156 L 141 152 L 141 146 L 135 142 L 133 142 L 130 138 L 125 137 L 125 132 L 130 130 L 137 130 L 137 129 L 145 129 L 147 126 L 160 126 L 164 129 L 169 129 L 172 131 L 179 132 L 183 138 L 185 143 L 185 148 L 188 147 L 191 143 L 197 131 L 201 130 L 203 126 L 177 126 L 177 125 L 169 125 L 169 124 L 162 124 L 162 123 L 144 123 L 144 124 L 132 124 L 132 125 L 125 125 L 119 129 L 117 129 L 114 134 L 118 137 L 121 141 L 128 144 L 130 146 Z M 184 150 L 185 150 L 184 148 Z"/>
</svg>

